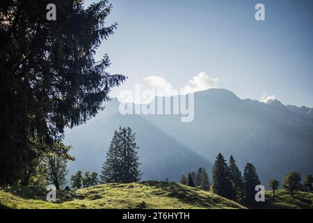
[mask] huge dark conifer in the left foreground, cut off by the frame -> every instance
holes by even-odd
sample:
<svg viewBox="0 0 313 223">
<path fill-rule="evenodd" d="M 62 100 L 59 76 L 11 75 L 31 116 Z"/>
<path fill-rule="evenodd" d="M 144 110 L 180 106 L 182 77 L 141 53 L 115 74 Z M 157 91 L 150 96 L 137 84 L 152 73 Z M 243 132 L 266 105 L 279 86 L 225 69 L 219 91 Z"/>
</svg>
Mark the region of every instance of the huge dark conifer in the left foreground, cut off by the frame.
<svg viewBox="0 0 313 223">
<path fill-rule="evenodd" d="M 56 20 L 46 18 L 56 5 Z M 107 0 L 7 0 L 0 6 L 0 185 L 14 184 L 64 128 L 95 116 L 109 91 L 109 57 L 95 50 L 113 34 Z M 42 146 L 43 144 L 48 146 Z"/>
</svg>

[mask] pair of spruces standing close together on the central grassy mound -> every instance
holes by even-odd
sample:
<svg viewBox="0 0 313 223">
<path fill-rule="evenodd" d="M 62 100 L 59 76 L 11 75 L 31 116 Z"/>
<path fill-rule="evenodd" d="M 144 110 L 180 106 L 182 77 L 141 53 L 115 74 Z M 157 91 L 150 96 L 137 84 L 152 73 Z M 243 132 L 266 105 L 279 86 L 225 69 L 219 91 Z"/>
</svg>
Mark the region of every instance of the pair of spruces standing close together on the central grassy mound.
<svg viewBox="0 0 313 223">
<path fill-rule="evenodd" d="M 115 131 L 100 178 L 104 183 L 132 183 L 141 179 L 135 133 L 131 128 Z"/>
</svg>

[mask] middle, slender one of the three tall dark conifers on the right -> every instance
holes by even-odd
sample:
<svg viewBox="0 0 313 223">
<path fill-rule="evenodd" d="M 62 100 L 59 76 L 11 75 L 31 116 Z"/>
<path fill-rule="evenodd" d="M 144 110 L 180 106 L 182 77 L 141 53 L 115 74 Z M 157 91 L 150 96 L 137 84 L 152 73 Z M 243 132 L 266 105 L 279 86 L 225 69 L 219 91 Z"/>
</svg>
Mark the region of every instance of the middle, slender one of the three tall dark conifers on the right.
<svg viewBox="0 0 313 223">
<path fill-rule="evenodd" d="M 243 199 L 243 179 L 241 171 L 237 167 L 236 160 L 234 160 L 232 155 L 230 156 L 228 167 L 230 169 L 230 176 L 232 177 L 232 183 L 236 192 L 236 201 L 241 201 Z"/>
</svg>

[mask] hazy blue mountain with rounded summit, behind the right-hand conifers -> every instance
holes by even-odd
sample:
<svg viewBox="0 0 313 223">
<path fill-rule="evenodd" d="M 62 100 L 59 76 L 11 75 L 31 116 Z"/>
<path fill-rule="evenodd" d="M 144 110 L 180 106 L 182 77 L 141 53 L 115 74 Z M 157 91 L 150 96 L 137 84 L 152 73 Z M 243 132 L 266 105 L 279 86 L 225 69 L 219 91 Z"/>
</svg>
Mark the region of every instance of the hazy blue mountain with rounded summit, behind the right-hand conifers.
<svg viewBox="0 0 313 223">
<path fill-rule="evenodd" d="M 275 103 L 280 105 L 280 103 Z M 282 105 L 283 106 L 283 105 Z M 232 154 L 243 169 L 257 167 L 262 183 L 291 170 L 313 172 L 313 121 L 280 106 L 241 100 L 225 89 L 195 93 L 195 118 L 145 116 L 177 141 L 214 162 Z"/>
</svg>

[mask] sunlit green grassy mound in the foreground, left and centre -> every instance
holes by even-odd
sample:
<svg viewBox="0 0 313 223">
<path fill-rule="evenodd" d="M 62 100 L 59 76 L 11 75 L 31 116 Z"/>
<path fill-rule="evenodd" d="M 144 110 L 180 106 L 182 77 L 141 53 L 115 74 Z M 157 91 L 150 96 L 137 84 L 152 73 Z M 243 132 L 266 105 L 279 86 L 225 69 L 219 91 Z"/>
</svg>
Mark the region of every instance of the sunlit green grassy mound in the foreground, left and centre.
<svg viewBox="0 0 313 223">
<path fill-rule="evenodd" d="M 144 181 L 106 184 L 57 194 L 45 201 L 45 190 L 36 187 L 2 188 L 0 208 L 244 208 L 211 192 L 179 183 Z"/>
</svg>

